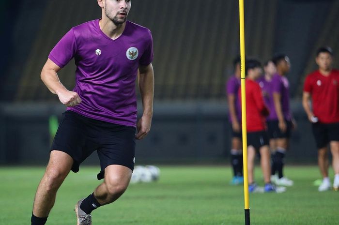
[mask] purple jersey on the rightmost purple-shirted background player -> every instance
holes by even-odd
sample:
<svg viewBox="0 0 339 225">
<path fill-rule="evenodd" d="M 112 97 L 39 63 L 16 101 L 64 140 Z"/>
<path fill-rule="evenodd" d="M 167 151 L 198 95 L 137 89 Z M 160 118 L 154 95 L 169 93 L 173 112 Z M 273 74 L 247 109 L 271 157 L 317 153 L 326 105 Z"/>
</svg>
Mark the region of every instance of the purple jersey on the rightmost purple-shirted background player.
<svg viewBox="0 0 339 225">
<path fill-rule="evenodd" d="M 272 77 L 272 93 L 280 94 L 280 103 L 285 120 L 291 120 L 289 82 L 285 76 L 278 74 Z M 270 120 L 277 120 L 277 112 L 270 112 Z"/>
</svg>

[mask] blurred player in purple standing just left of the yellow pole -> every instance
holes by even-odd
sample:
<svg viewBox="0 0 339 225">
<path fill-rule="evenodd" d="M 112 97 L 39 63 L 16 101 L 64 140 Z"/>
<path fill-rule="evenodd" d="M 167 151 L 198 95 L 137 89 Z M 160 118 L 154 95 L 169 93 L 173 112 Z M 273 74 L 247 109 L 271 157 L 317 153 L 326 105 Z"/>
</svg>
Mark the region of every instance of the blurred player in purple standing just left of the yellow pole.
<svg viewBox="0 0 339 225">
<path fill-rule="evenodd" d="M 231 140 L 231 165 L 233 168 L 233 178 L 231 184 L 237 185 L 244 182 L 243 177 L 243 150 L 241 147 L 241 109 L 238 101 L 238 90 L 240 87 L 240 57 L 233 60 L 234 75 L 232 75 L 226 84 L 227 100 L 229 106 L 229 120 L 232 126 Z"/>
</svg>

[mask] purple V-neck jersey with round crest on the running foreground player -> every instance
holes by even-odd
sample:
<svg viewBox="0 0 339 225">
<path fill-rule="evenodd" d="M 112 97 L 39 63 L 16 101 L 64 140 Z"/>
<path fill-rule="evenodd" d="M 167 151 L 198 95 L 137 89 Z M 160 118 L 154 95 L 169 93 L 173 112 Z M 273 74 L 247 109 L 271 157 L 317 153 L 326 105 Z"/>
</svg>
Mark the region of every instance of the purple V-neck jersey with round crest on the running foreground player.
<svg viewBox="0 0 339 225">
<path fill-rule="evenodd" d="M 76 86 L 82 102 L 67 110 L 85 117 L 136 126 L 135 81 L 139 65 L 153 60 L 151 31 L 126 21 L 115 40 L 100 30 L 99 19 L 72 28 L 48 58 L 60 67 L 75 59 Z"/>
</svg>

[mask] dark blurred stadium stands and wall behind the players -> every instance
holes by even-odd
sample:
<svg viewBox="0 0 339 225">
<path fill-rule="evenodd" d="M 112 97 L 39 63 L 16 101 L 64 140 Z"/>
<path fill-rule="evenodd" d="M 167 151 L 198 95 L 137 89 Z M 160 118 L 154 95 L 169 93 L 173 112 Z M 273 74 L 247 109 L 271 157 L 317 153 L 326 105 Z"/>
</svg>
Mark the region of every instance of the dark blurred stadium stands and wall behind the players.
<svg viewBox="0 0 339 225">
<path fill-rule="evenodd" d="M 228 162 L 225 83 L 240 52 L 238 10 L 237 0 L 132 0 L 128 19 L 154 38 L 154 120 L 137 142 L 137 163 Z M 100 16 L 96 0 L 0 1 L 0 164 L 46 163 L 48 118 L 60 118 L 65 107 L 40 80 L 41 69 L 71 27 Z M 316 163 L 302 87 L 318 47 L 339 52 L 338 21 L 338 0 L 245 0 L 247 56 L 264 62 L 285 53 L 292 62 L 287 77 L 298 129 L 288 162 Z M 59 76 L 72 89 L 74 63 Z"/>
</svg>

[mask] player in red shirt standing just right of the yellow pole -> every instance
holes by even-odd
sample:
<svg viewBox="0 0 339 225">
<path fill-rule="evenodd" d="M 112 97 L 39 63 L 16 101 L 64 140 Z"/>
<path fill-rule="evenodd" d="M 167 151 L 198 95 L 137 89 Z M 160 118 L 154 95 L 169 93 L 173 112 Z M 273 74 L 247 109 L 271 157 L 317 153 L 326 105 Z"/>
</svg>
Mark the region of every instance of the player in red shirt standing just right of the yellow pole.
<svg viewBox="0 0 339 225">
<path fill-rule="evenodd" d="M 266 133 L 265 116 L 269 111 L 264 104 L 262 90 L 255 81 L 262 74 L 261 63 L 257 60 L 246 61 L 246 116 L 247 116 L 247 146 L 248 146 L 248 190 L 255 192 L 257 184 L 254 181 L 254 160 L 256 151 L 260 153 L 262 173 L 265 182 L 264 191 L 274 192 L 271 183 L 271 165 L 269 139 Z M 241 90 L 239 90 L 241 96 Z M 239 97 L 239 99 L 241 99 Z"/>
</svg>

